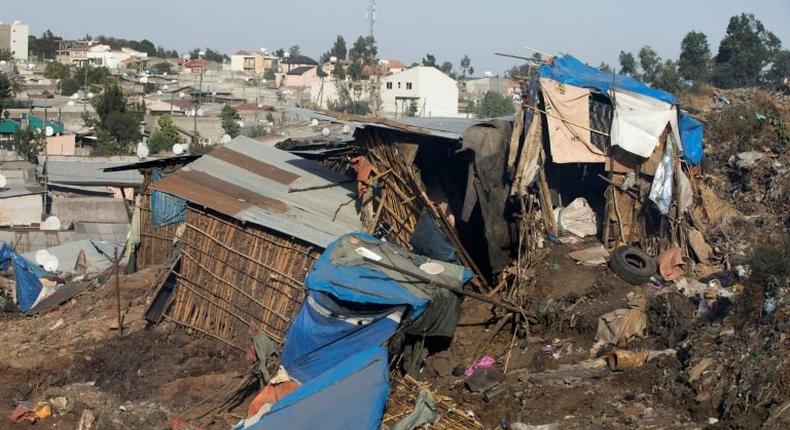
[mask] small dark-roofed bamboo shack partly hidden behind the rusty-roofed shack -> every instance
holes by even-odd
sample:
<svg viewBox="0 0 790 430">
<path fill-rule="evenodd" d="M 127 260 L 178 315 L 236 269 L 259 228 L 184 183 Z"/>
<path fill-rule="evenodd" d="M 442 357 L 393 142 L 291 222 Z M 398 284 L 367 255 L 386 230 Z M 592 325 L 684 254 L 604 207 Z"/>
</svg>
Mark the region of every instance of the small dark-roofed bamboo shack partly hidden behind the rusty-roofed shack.
<svg viewBox="0 0 790 430">
<path fill-rule="evenodd" d="M 132 256 L 130 263 L 134 264 L 135 268 L 143 269 L 151 265 L 162 264 L 173 258 L 176 232 L 183 224 L 183 220 L 177 219 L 180 215 L 177 213 L 154 216 L 151 211 L 152 196 L 154 199 L 171 199 L 172 197 L 152 192 L 151 184 L 198 158 L 200 158 L 199 155 L 180 155 L 104 169 L 105 172 L 137 170 L 143 177 L 143 183 L 140 185 L 135 200 L 135 211 L 132 215 L 132 223 L 139 226 L 137 229 L 139 238 L 135 238 L 137 244 L 133 249 L 129 249 Z M 171 207 L 170 205 L 163 206 L 165 208 Z"/>
</svg>

